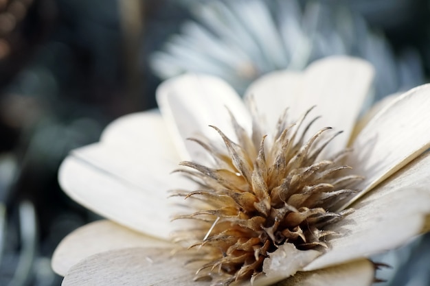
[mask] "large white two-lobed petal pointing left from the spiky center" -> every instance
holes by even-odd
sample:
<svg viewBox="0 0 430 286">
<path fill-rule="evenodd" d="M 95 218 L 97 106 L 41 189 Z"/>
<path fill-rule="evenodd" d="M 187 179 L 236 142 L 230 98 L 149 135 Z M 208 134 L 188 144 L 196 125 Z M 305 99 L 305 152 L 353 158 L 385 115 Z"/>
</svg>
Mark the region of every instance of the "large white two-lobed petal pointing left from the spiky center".
<svg viewBox="0 0 430 286">
<path fill-rule="evenodd" d="M 148 121 L 144 114 L 120 119 L 121 123 L 114 123 L 117 127 L 108 128 L 102 142 L 73 150 L 60 166 L 61 187 L 95 213 L 142 233 L 167 238 L 172 230 L 170 215 L 175 211 L 169 205 L 174 200 L 166 200 L 168 191 L 191 186 L 170 174 L 177 168 L 177 160 L 172 148 L 166 146 L 161 120 L 151 116 Z M 142 130 L 120 128 L 129 122 L 132 126 L 141 123 Z M 153 123 L 160 129 L 146 133 Z"/>
</svg>

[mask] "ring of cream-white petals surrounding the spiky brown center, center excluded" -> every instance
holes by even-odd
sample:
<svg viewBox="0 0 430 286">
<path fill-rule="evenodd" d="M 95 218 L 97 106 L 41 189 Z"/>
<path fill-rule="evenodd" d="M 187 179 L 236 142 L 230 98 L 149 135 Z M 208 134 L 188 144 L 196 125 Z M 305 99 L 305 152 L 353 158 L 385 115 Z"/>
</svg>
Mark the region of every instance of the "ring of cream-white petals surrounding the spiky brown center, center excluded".
<svg viewBox="0 0 430 286">
<path fill-rule="evenodd" d="M 343 217 L 324 225 L 321 230 L 327 235 L 314 241 L 317 245 L 326 244 L 327 248 L 297 250 L 302 249 L 303 242 L 308 242 L 308 235 L 303 235 L 302 243 L 290 243 L 288 235 L 280 241 L 268 238 L 273 235 L 273 225 L 247 228 L 267 230 L 264 239 L 273 248 L 261 252 L 266 248 L 260 244 L 256 246 L 256 259 L 262 258 L 263 263 L 244 276 L 246 281 L 240 282 L 249 283 L 256 270 L 262 274 L 253 281 L 255 285 L 281 280 L 282 285 L 370 285 L 374 279 L 374 265 L 365 257 L 396 248 L 430 226 L 427 218 L 430 213 L 430 156 L 425 153 L 430 145 L 430 86 L 391 97 L 357 121 L 372 74 L 370 65 L 361 60 L 326 58 L 313 63 L 304 73 L 280 71 L 254 82 L 245 95 L 249 105 L 223 81 L 207 75 L 182 75 L 164 82 L 157 91 L 163 116 L 158 112 L 142 112 L 115 121 L 106 128 L 99 143 L 73 151 L 60 169 L 60 184 L 71 198 L 111 219 L 84 226 L 60 243 L 53 267 L 58 274 L 65 275 L 63 285 L 210 285 L 209 281 L 194 281 L 201 264 L 190 262 L 196 258 L 195 253 L 200 253 L 202 259 L 207 258 L 204 245 L 201 249 L 172 254 L 177 246 L 170 242 L 170 233 L 174 230 L 170 218 L 178 208 L 183 210 L 184 201 L 173 207 L 166 197 L 172 189 L 194 191 L 197 187 L 194 182 L 170 172 L 177 169 L 181 160 L 213 166 L 201 145 L 185 139 L 199 133 L 210 143 L 216 142 L 219 134 L 207 127 L 212 125 L 232 141 L 241 141 L 246 136 L 240 135 L 240 129 L 232 130 L 229 112 L 247 134 L 251 134 L 251 130 L 256 133 L 251 117 L 255 119 L 257 112 L 261 134 L 267 134 L 264 148 L 274 146 L 278 141 L 271 141 L 271 138 L 276 139 L 273 126 L 285 108 L 289 108 L 288 118 L 298 119 L 312 106 L 316 106 L 312 114 L 321 115 L 321 118 L 310 126 L 307 139 L 326 126 L 343 130 L 318 158 L 323 157 L 321 160 L 328 162 L 327 158 L 349 146 L 352 151 L 347 152 L 343 163 L 354 168 L 353 174 L 364 178 L 354 184 L 357 193 L 353 198 L 348 196 L 345 202 L 339 197 L 341 204 L 332 204 L 317 213 L 340 213 Z M 245 145 L 242 144 L 243 150 L 252 149 Z M 297 152 L 294 154 L 299 154 Z M 249 181 L 251 165 L 243 167 L 240 158 L 236 160 L 237 156 L 232 153 L 233 160 L 225 162 L 234 165 L 230 169 L 237 171 L 238 180 Z M 253 158 L 249 154 L 242 155 L 241 158 Z M 273 163 L 275 159 L 266 160 Z M 315 162 L 323 162 L 321 160 Z M 346 176 L 336 178 L 344 180 Z M 330 177 L 329 182 L 333 186 L 339 183 L 335 177 Z M 237 186 L 236 182 L 231 184 Z M 330 195 L 330 191 L 327 193 Z M 306 210 L 290 207 L 294 204 L 287 200 L 282 199 L 285 204 L 281 205 L 288 202 L 288 214 L 306 213 Z M 354 212 L 348 215 L 342 212 L 348 208 L 354 208 Z M 246 210 L 240 210 L 239 214 L 242 213 Z M 261 213 L 264 211 L 259 215 Z M 309 225 L 314 218 L 306 217 Z M 203 228 L 205 237 L 201 237 L 201 244 L 205 244 L 208 237 L 214 237 L 216 234 L 212 232 L 227 219 L 223 215 L 212 215 L 209 226 Z M 246 219 L 253 217 L 248 214 Z M 290 218 L 281 219 L 290 222 Z M 234 221 L 231 227 L 236 229 L 238 224 Z M 197 226 L 193 222 L 191 225 Z M 299 228 L 285 229 L 287 232 L 310 231 L 302 222 L 295 226 Z M 185 229 L 190 230 L 190 225 Z M 190 230 L 192 234 L 197 232 Z M 225 257 L 229 257 L 227 252 Z M 242 261 L 237 268 L 231 268 L 229 262 L 221 263 L 219 269 L 214 268 L 215 282 L 218 270 L 234 276 L 248 263 Z M 223 281 L 231 282 L 228 277 L 231 276 Z M 239 275 L 238 278 L 244 277 Z"/>
</svg>

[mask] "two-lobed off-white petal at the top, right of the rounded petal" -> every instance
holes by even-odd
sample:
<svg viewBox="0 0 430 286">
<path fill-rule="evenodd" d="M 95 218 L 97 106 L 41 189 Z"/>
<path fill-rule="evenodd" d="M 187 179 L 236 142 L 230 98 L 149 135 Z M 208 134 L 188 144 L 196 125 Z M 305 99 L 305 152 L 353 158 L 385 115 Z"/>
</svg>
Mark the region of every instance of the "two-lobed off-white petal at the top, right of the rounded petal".
<svg viewBox="0 0 430 286">
<path fill-rule="evenodd" d="M 254 82 L 247 91 L 257 110 L 267 121 L 268 130 L 275 127 L 286 108 L 291 121 L 316 106 L 313 115 L 322 115 L 308 132 L 330 126 L 343 134 L 328 147 L 339 150 L 346 146 L 354 122 L 363 107 L 373 78 L 367 62 L 346 56 L 332 56 L 310 64 L 304 73 L 278 71 Z M 333 110 L 335 108 L 335 112 Z"/>
</svg>

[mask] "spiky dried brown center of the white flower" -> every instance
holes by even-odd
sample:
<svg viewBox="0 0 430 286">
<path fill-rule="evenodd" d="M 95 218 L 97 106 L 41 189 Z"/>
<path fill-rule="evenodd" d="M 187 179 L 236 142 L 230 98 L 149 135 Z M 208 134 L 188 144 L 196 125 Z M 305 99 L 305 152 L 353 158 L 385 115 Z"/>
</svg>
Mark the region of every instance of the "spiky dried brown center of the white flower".
<svg viewBox="0 0 430 286">
<path fill-rule="evenodd" d="M 311 108 L 312 109 L 312 108 Z M 308 110 L 309 112 L 310 110 Z M 177 241 L 199 248 L 203 266 L 196 278 L 222 274 L 220 281 L 255 278 L 262 273 L 268 254 L 284 243 L 299 250 L 324 248 L 333 235 L 326 230 L 350 213 L 332 211 L 339 201 L 354 193 L 360 176 L 346 174 L 342 165 L 348 150 L 329 159 L 320 158 L 337 134 L 323 128 L 306 138 L 306 112 L 288 126 L 286 116 L 270 144 L 256 120 L 251 136 L 232 117 L 238 143 L 212 126 L 224 148 L 192 139 L 214 158 L 213 167 L 182 162 L 185 176 L 199 184 L 196 191 L 177 191 L 189 201 L 193 213 L 178 219 L 194 219 L 195 227 L 177 233 Z M 316 118 L 317 119 L 317 118 Z"/>
</svg>

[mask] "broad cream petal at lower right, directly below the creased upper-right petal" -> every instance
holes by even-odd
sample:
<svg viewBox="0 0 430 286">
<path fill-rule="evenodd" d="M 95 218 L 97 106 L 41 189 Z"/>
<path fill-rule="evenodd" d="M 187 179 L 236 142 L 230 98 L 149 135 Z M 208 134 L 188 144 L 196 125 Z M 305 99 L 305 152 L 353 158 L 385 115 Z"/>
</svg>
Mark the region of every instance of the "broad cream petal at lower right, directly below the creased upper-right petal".
<svg viewBox="0 0 430 286">
<path fill-rule="evenodd" d="M 315 270 L 397 248 L 425 228 L 430 213 L 430 153 L 409 163 L 353 205 L 354 213 L 331 226 L 340 234 L 330 250 L 305 267 Z"/>
</svg>

